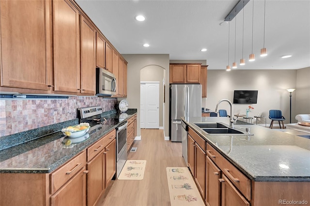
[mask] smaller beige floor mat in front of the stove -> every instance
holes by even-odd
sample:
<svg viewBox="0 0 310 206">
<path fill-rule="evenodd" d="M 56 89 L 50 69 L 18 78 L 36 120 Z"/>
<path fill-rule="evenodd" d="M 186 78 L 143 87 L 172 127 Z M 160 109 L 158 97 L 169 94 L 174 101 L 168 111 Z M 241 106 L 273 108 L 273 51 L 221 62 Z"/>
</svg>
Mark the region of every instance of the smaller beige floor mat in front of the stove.
<svg viewBox="0 0 310 206">
<path fill-rule="evenodd" d="M 145 166 L 146 160 L 127 160 L 118 179 L 141 180 Z"/>
</svg>

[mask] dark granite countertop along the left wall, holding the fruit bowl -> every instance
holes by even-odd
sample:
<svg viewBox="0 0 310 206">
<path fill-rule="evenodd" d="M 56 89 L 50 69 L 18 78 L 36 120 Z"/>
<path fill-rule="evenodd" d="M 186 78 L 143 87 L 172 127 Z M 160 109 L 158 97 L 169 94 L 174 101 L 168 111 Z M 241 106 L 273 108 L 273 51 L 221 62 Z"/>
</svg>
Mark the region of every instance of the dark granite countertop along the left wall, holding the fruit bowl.
<svg viewBox="0 0 310 206">
<path fill-rule="evenodd" d="M 131 118 L 134 114 L 136 112 L 128 112 L 127 118 Z M 82 142 L 73 143 L 70 147 L 64 145 L 63 142 L 67 137 L 62 132 L 54 132 L 0 150 L 0 173 L 50 173 L 91 146 L 105 134 L 115 130 L 120 123 L 101 125 L 95 132 L 87 132 Z"/>
</svg>

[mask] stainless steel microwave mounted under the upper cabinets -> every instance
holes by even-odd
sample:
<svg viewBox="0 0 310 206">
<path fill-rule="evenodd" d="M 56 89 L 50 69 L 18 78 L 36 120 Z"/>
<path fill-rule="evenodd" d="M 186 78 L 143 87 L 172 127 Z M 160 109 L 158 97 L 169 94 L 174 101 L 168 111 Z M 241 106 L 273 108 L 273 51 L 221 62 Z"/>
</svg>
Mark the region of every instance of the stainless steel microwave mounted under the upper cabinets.
<svg viewBox="0 0 310 206">
<path fill-rule="evenodd" d="M 96 68 L 96 95 L 112 96 L 116 94 L 115 75 L 103 68 Z"/>
</svg>

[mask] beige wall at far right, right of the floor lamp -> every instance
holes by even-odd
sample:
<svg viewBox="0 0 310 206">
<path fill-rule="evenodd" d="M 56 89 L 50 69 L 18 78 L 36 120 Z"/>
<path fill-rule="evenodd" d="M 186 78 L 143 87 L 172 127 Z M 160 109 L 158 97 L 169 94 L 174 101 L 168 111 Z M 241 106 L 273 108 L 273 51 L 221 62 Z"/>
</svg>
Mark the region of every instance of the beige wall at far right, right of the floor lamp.
<svg viewBox="0 0 310 206">
<path fill-rule="evenodd" d="M 296 90 L 293 95 L 296 96 L 296 102 L 292 121 L 297 114 L 310 114 L 310 67 L 297 70 Z"/>
</svg>

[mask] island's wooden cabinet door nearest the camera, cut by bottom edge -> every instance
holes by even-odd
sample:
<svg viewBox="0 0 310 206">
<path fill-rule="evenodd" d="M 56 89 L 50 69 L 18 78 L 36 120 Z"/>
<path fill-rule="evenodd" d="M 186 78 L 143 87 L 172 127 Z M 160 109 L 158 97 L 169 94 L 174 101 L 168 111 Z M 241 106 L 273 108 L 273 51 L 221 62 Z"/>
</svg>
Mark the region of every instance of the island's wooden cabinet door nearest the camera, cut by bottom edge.
<svg viewBox="0 0 310 206">
<path fill-rule="evenodd" d="M 230 180 L 222 175 L 221 183 L 221 206 L 250 206 L 248 200 L 233 186 Z"/>
</svg>

